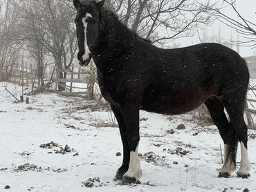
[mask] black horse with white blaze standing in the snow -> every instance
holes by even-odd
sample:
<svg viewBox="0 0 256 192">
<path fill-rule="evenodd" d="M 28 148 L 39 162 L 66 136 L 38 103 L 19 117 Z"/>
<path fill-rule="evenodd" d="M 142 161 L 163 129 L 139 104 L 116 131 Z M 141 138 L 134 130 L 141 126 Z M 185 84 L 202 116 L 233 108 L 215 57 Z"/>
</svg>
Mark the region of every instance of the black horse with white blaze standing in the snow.
<svg viewBox="0 0 256 192">
<path fill-rule="evenodd" d="M 205 104 L 225 144 L 219 177 L 235 171 L 250 176 L 244 101 L 249 73 L 237 52 L 220 44 L 162 49 L 139 37 L 103 8 L 104 1 L 73 0 L 80 65 L 91 58 L 98 70 L 104 99 L 116 115 L 123 144 L 123 162 L 114 180 L 136 182 L 142 176 L 138 157 L 139 111 L 181 114 Z M 230 117 L 228 121 L 224 108 Z"/>
</svg>

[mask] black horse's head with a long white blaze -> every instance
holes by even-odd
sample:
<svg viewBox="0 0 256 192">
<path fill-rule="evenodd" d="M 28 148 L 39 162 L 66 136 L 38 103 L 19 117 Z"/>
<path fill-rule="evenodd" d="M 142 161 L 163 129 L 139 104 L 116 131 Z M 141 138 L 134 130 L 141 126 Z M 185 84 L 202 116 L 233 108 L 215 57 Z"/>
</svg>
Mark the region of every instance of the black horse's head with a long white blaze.
<svg viewBox="0 0 256 192">
<path fill-rule="evenodd" d="M 77 59 L 81 66 L 88 66 L 91 61 L 91 51 L 98 39 L 98 29 L 100 25 L 99 13 L 104 5 L 104 0 L 82 1 L 73 0 L 77 10 L 75 25 L 79 52 Z"/>
</svg>

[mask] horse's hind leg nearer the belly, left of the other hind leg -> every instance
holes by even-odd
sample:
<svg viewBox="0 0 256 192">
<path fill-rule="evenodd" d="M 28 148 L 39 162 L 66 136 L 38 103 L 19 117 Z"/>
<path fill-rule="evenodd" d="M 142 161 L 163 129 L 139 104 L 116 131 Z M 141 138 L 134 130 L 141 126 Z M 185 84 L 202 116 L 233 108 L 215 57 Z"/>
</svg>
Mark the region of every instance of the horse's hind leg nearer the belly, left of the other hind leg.
<svg viewBox="0 0 256 192">
<path fill-rule="evenodd" d="M 224 106 L 218 97 L 210 97 L 206 102 L 212 121 L 219 129 L 219 133 L 224 142 L 224 164 L 218 177 L 230 177 L 231 172 L 235 171 L 237 138 L 232 125 L 228 122 L 224 113 Z"/>
</svg>

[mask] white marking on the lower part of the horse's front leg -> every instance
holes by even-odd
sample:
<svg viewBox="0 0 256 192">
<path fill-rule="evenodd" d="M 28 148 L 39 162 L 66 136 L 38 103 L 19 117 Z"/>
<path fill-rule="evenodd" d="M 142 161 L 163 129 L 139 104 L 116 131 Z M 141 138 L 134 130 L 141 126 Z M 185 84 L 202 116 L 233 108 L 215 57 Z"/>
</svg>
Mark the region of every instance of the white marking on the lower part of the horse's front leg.
<svg viewBox="0 0 256 192">
<path fill-rule="evenodd" d="M 141 171 L 140 167 L 140 159 L 138 157 L 138 146 L 136 148 L 136 151 L 130 152 L 130 162 L 129 162 L 129 169 L 125 173 L 124 177 L 135 177 L 136 181 L 140 180 L 143 173 Z"/>
</svg>

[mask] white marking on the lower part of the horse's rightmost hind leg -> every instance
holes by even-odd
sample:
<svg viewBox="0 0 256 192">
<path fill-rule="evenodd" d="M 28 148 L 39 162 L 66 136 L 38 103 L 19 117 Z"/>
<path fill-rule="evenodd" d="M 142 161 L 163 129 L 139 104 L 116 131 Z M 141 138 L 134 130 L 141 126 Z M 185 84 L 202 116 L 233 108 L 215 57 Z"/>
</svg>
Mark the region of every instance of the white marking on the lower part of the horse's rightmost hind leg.
<svg viewBox="0 0 256 192">
<path fill-rule="evenodd" d="M 248 175 L 248 171 L 250 171 L 250 161 L 248 157 L 248 151 L 246 146 L 244 146 L 244 143 L 241 142 L 241 164 L 240 169 L 237 171 L 237 173 L 241 175 Z"/>
</svg>

